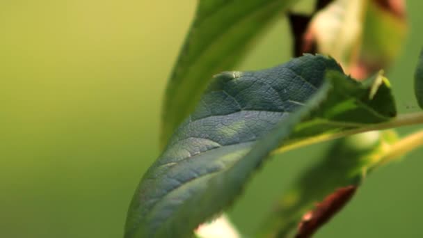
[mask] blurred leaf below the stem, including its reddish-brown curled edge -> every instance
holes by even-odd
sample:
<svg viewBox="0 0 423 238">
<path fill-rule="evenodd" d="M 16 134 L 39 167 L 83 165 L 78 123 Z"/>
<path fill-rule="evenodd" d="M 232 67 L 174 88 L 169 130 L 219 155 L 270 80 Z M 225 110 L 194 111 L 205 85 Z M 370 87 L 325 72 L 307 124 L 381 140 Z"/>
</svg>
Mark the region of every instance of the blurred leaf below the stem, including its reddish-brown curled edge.
<svg viewBox="0 0 423 238">
<path fill-rule="evenodd" d="M 290 237 L 294 232 L 297 237 L 312 235 L 348 202 L 369 170 L 378 166 L 396 141 L 397 135 L 391 130 L 336 141 L 328 154 L 305 170 L 282 196 L 266 219 L 260 237 Z"/>
</svg>

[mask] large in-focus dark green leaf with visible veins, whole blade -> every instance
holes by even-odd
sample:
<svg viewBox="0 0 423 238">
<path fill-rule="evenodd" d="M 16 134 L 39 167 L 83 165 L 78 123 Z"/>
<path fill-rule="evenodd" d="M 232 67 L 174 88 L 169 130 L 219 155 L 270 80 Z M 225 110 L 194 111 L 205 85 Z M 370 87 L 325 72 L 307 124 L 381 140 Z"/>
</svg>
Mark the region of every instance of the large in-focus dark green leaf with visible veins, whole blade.
<svg viewBox="0 0 423 238">
<path fill-rule="evenodd" d="M 383 77 L 354 81 L 326 56 L 219 74 L 143 176 L 125 237 L 186 237 L 230 205 L 250 173 L 281 143 L 394 115 Z"/>
</svg>

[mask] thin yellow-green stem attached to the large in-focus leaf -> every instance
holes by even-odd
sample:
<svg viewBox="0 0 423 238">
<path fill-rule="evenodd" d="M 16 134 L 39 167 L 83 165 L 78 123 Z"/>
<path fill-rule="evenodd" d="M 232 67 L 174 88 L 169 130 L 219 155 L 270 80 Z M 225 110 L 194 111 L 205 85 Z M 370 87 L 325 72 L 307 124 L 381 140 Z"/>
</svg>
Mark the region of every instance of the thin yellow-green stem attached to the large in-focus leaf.
<svg viewBox="0 0 423 238">
<path fill-rule="evenodd" d="M 288 143 L 282 145 L 282 147 L 278 148 L 273 153 L 281 153 L 286 152 L 288 150 L 294 150 L 296 148 L 303 147 L 305 145 L 311 145 L 314 143 L 320 143 L 324 141 L 331 141 L 336 138 L 342 138 L 344 136 L 352 136 L 353 134 L 360 134 L 363 132 L 372 132 L 372 131 L 379 131 L 383 129 L 392 129 L 396 127 L 405 127 L 410 125 L 423 125 L 423 113 L 408 113 L 399 115 L 396 118 L 388 121 L 388 122 L 381 122 L 372 125 L 364 125 L 358 129 L 349 129 L 343 132 L 335 132 L 333 134 L 320 134 L 317 136 L 312 136 L 310 138 L 306 138 L 301 141 L 293 141 L 292 143 Z"/>
</svg>

